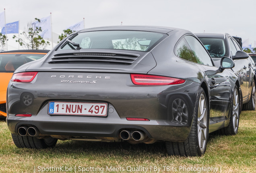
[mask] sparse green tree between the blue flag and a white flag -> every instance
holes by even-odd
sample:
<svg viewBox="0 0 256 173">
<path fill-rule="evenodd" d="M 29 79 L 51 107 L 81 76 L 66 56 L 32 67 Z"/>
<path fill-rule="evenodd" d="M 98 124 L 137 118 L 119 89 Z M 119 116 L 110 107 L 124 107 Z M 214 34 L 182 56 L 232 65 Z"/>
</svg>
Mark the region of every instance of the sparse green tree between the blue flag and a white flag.
<svg viewBox="0 0 256 173">
<path fill-rule="evenodd" d="M 40 22 L 40 19 L 35 18 L 38 22 Z M 35 27 L 30 22 L 27 24 L 26 31 L 22 32 L 21 35 L 24 36 L 23 38 L 18 38 L 16 42 L 18 42 L 21 46 L 24 46 L 27 49 L 45 49 L 47 45 L 50 45 L 50 42 L 45 42 L 43 38 L 39 35 L 40 32 L 42 32 L 41 27 Z M 13 36 L 12 38 L 17 38 L 17 36 Z"/>
</svg>

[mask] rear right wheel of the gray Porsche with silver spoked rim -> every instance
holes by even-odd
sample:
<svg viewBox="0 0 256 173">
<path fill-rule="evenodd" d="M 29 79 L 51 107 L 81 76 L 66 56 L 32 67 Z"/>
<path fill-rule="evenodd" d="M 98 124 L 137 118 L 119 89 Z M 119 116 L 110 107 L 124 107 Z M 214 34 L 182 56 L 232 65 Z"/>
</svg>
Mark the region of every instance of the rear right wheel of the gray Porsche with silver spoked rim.
<svg viewBox="0 0 256 173">
<path fill-rule="evenodd" d="M 207 103 L 204 90 L 200 87 L 196 97 L 190 134 L 184 142 L 166 141 L 168 155 L 202 156 L 204 154 L 209 136 L 209 111 Z"/>
</svg>

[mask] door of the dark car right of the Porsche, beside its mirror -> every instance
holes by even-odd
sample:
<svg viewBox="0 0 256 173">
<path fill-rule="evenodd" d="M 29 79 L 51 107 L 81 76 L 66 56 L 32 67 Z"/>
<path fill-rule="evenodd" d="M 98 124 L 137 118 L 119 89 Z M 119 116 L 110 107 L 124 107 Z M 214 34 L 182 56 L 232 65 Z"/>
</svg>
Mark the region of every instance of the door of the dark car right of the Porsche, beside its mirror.
<svg viewBox="0 0 256 173">
<path fill-rule="evenodd" d="M 237 45 L 233 38 L 229 37 L 229 47 L 231 50 L 231 56 L 235 56 L 235 53 L 241 48 Z M 249 98 L 249 88 L 250 88 L 250 74 L 251 74 L 251 67 L 250 62 L 248 59 L 236 59 L 234 60 L 235 67 L 233 67 L 233 71 L 239 78 L 241 84 L 241 91 L 243 95 L 243 101 L 247 101 Z"/>
</svg>

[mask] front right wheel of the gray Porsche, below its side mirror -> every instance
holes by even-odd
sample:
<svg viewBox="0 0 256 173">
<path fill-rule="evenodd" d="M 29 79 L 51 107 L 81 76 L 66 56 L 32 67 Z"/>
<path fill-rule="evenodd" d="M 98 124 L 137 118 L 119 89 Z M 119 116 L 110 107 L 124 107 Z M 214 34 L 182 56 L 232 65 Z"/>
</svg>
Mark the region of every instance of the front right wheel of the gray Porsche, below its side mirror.
<svg viewBox="0 0 256 173">
<path fill-rule="evenodd" d="M 241 102 L 239 101 L 240 100 L 239 97 L 240 97 L 240 94 L 238 93 L 238 88 L 235 85 L 234 93 L 233 93 L 232 111 L 229 117 L 229 125 L 219 130 L 219 132 L 222 135 L 237 134 L 238 126 L 239 126 L 239 117 L 240 117 L 239 104 L 241 104 Z"/>
</svg>

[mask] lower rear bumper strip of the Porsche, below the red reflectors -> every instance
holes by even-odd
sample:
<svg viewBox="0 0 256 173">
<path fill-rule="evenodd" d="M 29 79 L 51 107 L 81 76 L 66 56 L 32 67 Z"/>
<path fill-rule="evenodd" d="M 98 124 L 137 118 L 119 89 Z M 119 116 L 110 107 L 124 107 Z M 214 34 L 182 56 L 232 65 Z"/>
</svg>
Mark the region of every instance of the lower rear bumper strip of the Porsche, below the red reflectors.
<svg viewBox="0 0 256 173">
<path fill-rule="evenodd" d="M 35 126 L 41 135 L 63 135 L 70 137 L 111 137 L 120 139 L 122 130 L 143 131 L 149 138 L 163 141 L 185 141 L 190 132 L 188 126 L 152 125 L 151 124 L 95 124 L 95 123 L 60 123 L 41 121 L 16 121 L 8 120 L 9 129 L 23 125 Z"/>
</svg>

